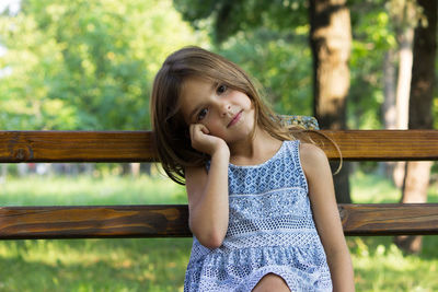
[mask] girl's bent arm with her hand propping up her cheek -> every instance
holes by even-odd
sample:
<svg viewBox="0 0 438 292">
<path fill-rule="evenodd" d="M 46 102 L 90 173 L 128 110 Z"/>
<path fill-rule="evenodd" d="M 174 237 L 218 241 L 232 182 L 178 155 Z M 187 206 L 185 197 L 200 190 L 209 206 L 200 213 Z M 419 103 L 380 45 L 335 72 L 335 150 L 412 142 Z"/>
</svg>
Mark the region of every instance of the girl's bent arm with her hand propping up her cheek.
<svg viewBox="0 0 438 292">
<path fill-rule="evenodd" d="M 228 165 L 227 143 L 208 135 L 203 125 L 191 126 L 194 149 L 211 156 L 210 168 L 187 167 L 185 183 L 188 198 L 188 224 L 199 241 L 209 248 L 219 247 L 228 229 Z"/>
</svg>

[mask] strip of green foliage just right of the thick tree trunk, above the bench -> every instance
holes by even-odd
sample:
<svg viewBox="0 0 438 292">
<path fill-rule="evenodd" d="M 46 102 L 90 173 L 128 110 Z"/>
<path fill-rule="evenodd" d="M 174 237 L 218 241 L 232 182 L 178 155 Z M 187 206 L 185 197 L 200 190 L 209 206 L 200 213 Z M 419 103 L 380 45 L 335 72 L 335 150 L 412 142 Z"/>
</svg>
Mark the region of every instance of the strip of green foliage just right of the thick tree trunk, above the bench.
<svg viewBox="0 0 438 292">
<path fill-rule="evenodd" d="M 349 8 L 354 49 L 349 61 L 347 125 L 355 129 L 379 129 L 387 125 L 388 112 L 395 125 L 397 45 L 388 1 L 349 1 Z M 390 110 L 387 112 L 383 107 L 389 96 L 393 96 L 393 102 L 388 103 Z"/>
</svg>

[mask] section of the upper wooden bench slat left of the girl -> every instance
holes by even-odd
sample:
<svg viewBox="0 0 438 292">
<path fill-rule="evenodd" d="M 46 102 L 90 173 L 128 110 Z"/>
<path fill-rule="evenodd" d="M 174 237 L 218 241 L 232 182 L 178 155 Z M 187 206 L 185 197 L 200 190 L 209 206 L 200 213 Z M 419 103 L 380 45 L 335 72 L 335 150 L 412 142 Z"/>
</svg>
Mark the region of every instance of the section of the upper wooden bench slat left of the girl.
<svg viewBox="0 0 438 292">
<path fill-rule="evenodd" d="M 0 163 L 154 161 L 149 131 L 0 131 Z"/>
</svg>

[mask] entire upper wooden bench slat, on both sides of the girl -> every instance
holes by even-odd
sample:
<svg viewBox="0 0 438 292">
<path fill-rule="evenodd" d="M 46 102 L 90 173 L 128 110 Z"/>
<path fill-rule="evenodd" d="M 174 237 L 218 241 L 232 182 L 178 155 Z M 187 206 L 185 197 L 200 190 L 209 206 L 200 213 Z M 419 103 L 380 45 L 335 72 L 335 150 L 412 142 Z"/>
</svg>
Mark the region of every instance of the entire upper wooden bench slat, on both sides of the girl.
<svg viewBox="0 0 438 292">
<path fill-rule="evenodd" d="M 348 161 L 438 160 L 438 130 L 321 130 Z M 0 163 L 151 162 L 150 131 L 0 131 Z M 335 148 L 322 145 L 330 159 Z"/>
</svg>

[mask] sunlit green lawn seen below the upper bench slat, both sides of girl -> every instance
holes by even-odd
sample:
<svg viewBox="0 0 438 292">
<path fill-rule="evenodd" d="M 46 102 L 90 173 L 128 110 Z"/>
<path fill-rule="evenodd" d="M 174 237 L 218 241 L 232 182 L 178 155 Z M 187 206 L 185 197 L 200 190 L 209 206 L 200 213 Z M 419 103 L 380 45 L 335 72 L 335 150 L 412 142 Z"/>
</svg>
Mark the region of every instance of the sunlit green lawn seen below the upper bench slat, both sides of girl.
<svg viewBox="0 0 438 292">
<path fill-rule="evenodd" d="M 395 202 L 378 176 L 351 177 L 355 202 Z M 383 195 L 385 194 L 385 195 Z M 438 201 L 437 187 L 430 201 Z M 160 177 L 9 178 L 1 206 L 185 203 L 184 189 Z M 391 237 L 348 237 L 357 291 L 438 291 L 438 237 L 404 256 Z M 182 291 L 191 238 L 0 242 L 0 291 Z"/>
</svg>

